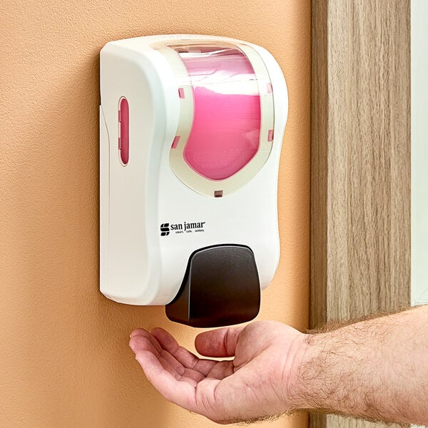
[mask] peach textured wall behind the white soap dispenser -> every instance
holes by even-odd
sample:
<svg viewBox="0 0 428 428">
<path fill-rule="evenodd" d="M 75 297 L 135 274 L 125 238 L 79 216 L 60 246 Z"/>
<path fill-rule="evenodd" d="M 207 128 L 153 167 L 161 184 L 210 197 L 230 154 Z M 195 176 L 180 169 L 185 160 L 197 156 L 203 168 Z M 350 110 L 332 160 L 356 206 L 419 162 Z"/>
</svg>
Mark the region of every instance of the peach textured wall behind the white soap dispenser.
<svg viewBox="0 0 428 428">
<path fill-rule="evenodd" d="M 195 330 L 98 292 L 98 53 L 158 33 L 232 36 L 277 58 L 290 91 L 280 166 L 282 255 L 259 319 L 308 322 L 310 1 L 2 1 L 0 426 L 193 428 L 128 349 L 133 327 Z M 306 417 L 259 427 L 305 427 Z"/>
</svg>

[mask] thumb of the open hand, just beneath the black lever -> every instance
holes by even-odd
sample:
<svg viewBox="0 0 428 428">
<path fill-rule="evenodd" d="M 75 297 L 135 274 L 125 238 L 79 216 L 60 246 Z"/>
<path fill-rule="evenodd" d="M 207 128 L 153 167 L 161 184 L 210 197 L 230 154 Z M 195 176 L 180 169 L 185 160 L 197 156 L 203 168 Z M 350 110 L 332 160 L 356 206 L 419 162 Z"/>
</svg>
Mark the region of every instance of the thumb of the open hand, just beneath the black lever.
<svg viewBox="0 0 428 428">
<path fill-rule="evenodd" d="M 196 350 L 207 357 L 233 357 L 238 337 L 245 327 L 223 327 L 200 333 L 195 338 Z"/>
</svg>

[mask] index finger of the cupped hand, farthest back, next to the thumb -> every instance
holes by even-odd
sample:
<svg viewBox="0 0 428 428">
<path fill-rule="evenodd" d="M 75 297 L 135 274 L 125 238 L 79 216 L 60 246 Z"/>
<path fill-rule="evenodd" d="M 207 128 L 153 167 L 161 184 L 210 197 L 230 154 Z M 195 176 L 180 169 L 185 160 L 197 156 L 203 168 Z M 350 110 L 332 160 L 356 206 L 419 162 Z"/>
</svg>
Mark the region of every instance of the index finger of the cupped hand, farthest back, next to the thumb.
<svg viewBox="0 0 428 428">
<path fill-rule="evenodd" d="M 213 365 L 215 365 L 215 361 L 200 359 L 192 354 L 192 352 L 186 350 L 185 347 L 178 345 L 174 337 L 166 330 L 163 330 L 163 328 L 157 327 L 153 329 L 152 335 L 158 340 L 161 347 L 173 355 L 185 368 L 197 370 L 206 375 Z"/>
</svg>

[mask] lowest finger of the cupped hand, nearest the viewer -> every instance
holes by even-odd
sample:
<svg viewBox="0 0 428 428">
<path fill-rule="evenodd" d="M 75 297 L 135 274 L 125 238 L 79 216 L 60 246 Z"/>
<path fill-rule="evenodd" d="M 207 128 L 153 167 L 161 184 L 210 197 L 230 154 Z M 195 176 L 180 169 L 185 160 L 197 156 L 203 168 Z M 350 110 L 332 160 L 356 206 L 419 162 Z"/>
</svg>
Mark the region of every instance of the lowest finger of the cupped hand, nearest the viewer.
<svg viewBox="0 0 428 428">
<path fill-rule="evenodd" d="M 153 387 L 169 402 L 178 404 L 190 411 L 195 411 L 195 387 L 188 382 L 180 382 L 165 370 L 161 362 L 151 352 L 143 350 L 136 354 L 136 360 Z"/>
</svg>

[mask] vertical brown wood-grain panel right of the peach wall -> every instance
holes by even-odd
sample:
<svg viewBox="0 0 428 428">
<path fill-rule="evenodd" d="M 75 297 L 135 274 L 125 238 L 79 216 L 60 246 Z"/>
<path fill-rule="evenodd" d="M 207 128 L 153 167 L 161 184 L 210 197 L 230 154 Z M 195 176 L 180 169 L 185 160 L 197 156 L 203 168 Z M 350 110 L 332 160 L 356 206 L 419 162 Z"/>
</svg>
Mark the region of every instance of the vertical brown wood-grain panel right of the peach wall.
<svg viewBox="0 0 428 428">
<path fill-rule="evenodd" d="M 312 327 L 410 302 L 409 23 L 409 0 L 312 1 Z"/>
</svg>

